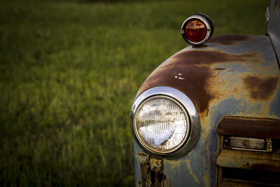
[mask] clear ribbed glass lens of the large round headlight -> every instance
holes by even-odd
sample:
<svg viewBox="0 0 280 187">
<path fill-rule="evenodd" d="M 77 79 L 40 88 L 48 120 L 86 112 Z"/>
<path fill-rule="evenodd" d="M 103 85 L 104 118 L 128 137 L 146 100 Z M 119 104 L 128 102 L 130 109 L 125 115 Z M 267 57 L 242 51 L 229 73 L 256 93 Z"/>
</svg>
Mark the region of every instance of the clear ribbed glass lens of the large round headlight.
<svg viewBox="0 0 280 187">
<path fill-rule="evenodd" d="M 188 114 L 179 102 L 169 97 L 147 99 L 134 118 L 134 130 L 144 146 L 160 153 L 169 153 L 187 139 Z"/>
</svg>

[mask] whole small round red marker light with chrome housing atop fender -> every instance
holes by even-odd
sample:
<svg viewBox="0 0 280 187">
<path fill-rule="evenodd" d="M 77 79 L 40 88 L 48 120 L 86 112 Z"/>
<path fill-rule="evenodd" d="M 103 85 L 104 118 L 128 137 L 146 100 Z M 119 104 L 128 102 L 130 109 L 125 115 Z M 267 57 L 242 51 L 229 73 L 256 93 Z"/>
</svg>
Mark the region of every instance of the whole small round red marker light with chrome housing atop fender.
<svg viewBox="0 0 280 187">
<path fill-rule="evenodd" d="M 181 34 L 186 42 L 193 46 L 205 43 L 213 34 L 214 25 L 211 19 L 202 13 L 187 18 L 181 27 Z"/>
</svg>

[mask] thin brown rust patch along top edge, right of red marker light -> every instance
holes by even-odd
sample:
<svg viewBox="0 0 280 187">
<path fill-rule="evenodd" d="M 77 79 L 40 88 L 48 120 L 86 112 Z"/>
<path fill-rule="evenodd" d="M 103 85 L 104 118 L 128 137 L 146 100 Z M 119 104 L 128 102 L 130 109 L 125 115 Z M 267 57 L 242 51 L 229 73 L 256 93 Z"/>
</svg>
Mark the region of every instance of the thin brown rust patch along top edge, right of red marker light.
<svg viewBox="0 0 280 187">
<path fill-rule="evenodd" d="M 251 36 L 244 34 L 227 34 L 221 36 L 215 36 L 209 39 L 209 43 L 218 43 L 224 46 L 230 46 L 237 41 L 246 41 L 251 39 Z"/>
</svg>

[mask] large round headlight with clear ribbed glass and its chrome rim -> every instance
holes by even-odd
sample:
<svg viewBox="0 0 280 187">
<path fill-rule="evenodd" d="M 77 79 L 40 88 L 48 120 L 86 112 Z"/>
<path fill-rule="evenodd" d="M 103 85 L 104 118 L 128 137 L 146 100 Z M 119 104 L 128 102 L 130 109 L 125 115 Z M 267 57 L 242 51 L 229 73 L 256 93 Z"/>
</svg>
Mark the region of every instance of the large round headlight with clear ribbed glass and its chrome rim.
<svg viewBox="0 0 280 187">
<path fill-rule="evenodd" d="M 174 88 L 165 86 L 143 92 L 132 105 L 134 138 L 151 155 L 174 158 L 195 145 L 200 119 L 193 102 Z"/>
</svg>

